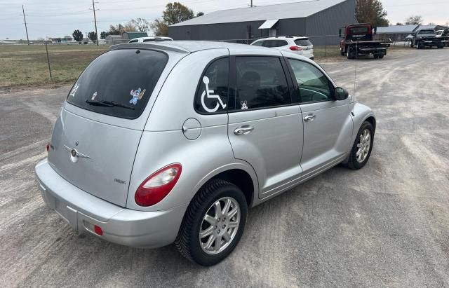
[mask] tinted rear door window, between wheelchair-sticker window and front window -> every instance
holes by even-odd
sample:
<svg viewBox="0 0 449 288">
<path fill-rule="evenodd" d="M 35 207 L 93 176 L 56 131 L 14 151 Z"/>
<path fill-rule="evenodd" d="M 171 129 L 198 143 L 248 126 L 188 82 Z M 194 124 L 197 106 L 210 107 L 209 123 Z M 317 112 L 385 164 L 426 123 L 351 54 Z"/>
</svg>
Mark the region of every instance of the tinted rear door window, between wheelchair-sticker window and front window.
<svg viewBox="0 0 449 288">
<path fill-rule="evenodd" d="M 236 109 L 260 109 L 291 103 L 279 57 L 236 57 Z"/>
</svg>

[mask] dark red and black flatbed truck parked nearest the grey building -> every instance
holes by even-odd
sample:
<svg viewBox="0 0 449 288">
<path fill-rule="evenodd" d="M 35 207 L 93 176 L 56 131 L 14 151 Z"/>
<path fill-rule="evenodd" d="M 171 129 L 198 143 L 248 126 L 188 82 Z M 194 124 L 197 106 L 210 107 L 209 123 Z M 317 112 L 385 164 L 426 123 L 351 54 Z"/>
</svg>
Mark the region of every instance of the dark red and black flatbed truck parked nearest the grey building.
<svg viewBox="0 0 449 288">
<path fill-rule="evenodd" d="M 357 55 L 373 55 L 376 59 L 387 55 L 387 48 L 392 43 L 391 39 L 374 40 L 373 27 L 370 23 L 359 23 L 340 28 L 338 35 L 340 41 L 340 53 L 347 55 L 348 59 L 354 59 Z"/>
</svg>

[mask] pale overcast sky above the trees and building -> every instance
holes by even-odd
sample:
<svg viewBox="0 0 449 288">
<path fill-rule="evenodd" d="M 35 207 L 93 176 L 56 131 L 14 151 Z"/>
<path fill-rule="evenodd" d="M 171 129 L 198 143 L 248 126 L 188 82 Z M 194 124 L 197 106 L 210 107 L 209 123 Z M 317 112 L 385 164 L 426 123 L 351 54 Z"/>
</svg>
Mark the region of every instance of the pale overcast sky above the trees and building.
<svg viewBox="0 0 449 288">
<path fill-rule="evenodd" d="M 109 25 L 126 23 L 133 18 L 149 22 L 161 17 L 168 0 L 94 0 L 98 33 Z M 246 7 L 250 0 L 183 0 L 194 13 Z M 302 1 L 302 0 L 299 0 Z M 253 0 L 256 6 L 295 2 L 295 0 Z M 0 39 L 26 39 L 22 15 L 25 5 L 29 39 L 62 37 L 75 29 L 95 31 L 92 0 L 0 0 Z M 388 20 L 404 22 L 409 15 L 422 15 L 424 24 L 449 22 L 449 0 L 382 0 Z M 151 33 L 150 33 L 151 34 Z"/>
</svg>

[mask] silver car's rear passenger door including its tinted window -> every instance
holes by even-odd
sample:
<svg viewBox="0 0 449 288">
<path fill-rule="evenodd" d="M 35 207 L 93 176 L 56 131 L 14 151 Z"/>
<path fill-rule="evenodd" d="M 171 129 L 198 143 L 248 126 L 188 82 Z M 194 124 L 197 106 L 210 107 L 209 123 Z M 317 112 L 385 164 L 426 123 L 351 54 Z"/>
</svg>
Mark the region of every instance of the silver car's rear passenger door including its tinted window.
<svg viewBox="0 0 449 288">
<path fill-rule="evenodd" d="M 234 157 L 257 173 L 260 198 L 272 195 L 301 174 L 302 114 L 292 104 L 286 64 L 273 56 L 232 57 L 234 107 L 229 105 L 228 137 Z"/>
</svg>

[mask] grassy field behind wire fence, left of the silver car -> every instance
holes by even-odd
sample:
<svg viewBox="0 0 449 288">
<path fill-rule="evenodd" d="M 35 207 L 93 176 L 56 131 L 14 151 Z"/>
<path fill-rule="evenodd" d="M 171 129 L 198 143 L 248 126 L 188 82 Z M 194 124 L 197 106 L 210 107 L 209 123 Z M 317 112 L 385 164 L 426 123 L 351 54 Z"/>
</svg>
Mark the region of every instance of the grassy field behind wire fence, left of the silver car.
<svg viewBox="0 0 449 288">
<path fill-rule="evenodd" d="M 0 45 L 0 88 L 70 83 L 109 46 L 48 45 L 51 74 L 43 45 Z"/>
</svg>

